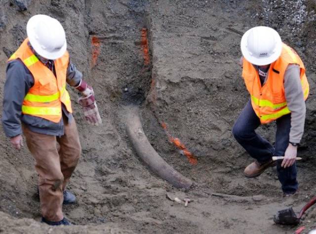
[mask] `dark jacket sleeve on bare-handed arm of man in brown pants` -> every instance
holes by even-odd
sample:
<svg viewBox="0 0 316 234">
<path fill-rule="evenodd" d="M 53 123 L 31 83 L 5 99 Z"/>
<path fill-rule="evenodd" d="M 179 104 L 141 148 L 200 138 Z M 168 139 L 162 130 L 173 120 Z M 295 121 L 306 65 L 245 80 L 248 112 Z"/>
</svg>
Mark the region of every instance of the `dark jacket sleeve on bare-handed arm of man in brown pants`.
<svg viewBox="0 0 316 234">
<path fill-rule="evenodd" d="M 4 83 L 2 126 L 7 137 L 22 134 L 22 103 L 34 78 L 19 59 L 8 63 Z"/>
</svg>

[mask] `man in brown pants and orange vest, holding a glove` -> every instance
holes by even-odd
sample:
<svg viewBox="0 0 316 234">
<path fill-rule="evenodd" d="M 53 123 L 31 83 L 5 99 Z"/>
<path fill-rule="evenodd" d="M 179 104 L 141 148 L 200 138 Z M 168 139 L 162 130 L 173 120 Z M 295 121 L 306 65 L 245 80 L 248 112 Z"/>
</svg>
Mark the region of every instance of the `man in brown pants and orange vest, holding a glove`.
<svg viewBox="0 0 316 234">
<path fill-rule="evenodd" d="M 2 125 L 17 150 L 23 146 L 23 132 L 35 158 L 42 222 L 70 225 L 62 204 L 76 201 L 66 186 L 81 147 L 66 83 L 82 93 L 79 103 L 86 120 L 97 125 L 101 118 L 93 89 L 69 60 L 60 22 L 35 15 L 27 23 L 27 36 L 8 60 Z"/>
</svg>

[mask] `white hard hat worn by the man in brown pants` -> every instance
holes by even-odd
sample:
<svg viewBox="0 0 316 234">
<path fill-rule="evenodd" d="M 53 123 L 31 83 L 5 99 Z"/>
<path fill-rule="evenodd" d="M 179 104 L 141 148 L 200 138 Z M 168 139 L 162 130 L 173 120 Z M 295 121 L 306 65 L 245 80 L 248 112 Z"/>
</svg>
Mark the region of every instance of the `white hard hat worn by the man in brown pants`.
<svg viewBox="0 0 316 234">
<path fill-rule="evenodd" d="M 66 35 L 58 20 L 48 15 L 32 16 L 26 26 L 32 47 L 46 59 L 58 59 L 67 48 Z"/>
</svg>

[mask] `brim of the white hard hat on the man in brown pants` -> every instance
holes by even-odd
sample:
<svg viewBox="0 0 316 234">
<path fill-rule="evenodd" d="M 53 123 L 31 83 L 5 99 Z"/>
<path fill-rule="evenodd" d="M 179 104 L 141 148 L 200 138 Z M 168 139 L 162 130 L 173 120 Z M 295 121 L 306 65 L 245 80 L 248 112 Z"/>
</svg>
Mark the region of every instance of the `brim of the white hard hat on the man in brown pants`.
<svg viewBox="0 0 316 234">
<path fill-rule="evenodd" d="M 44 21 L 47 18 L 49 18 L 49 16 L 47 15 L 34 15 L 32 16 L 27 25 L 26 25 L 26 32 L 28 35 L 28 38 L 30 40 L 30 43 L 32 45 L 32 47 L 35 49 L 35 51 L 42 57 L 49 59 L 49 60 L 55 60 L 58 59 L 60 57 L 62 57 L 66 50 L 67 50 L 67 41 L 65 40 L 65 43 L 63 44 L 63 46 L 54 52 L 49 52 L 44 50 L 40 43 L 38 42 L 38 40 L 36 39 L 36 33 L 35 33 L 35 28 L 38 22 L 40 21 Z"/>
</svg>

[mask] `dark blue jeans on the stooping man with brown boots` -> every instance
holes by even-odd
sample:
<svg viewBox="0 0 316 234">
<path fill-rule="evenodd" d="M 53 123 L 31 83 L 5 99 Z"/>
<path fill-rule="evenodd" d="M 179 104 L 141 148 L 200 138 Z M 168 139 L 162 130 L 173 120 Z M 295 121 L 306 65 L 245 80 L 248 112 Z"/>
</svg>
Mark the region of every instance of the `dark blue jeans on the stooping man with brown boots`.
<svg viewBox="0 0 316 234">
<path fill-rule="evenodd" d="M 289 144 L 291 114 L 276 119 L 276 143 L 274 147 L 255 132 L 260 124 L 260 119 L 253 111 L 249 100 L 233 127 L 233 134 L 237 142 L 259 163 L 269 161 L 272 156 L 284 156 Z M 278 179 L 282 185 L 283 193 L 292 194 L 298 189 L 296 163 L 283 168 L 281 162 L 282 160 L 277 160 L 276 164 Z"/>
</svg>

